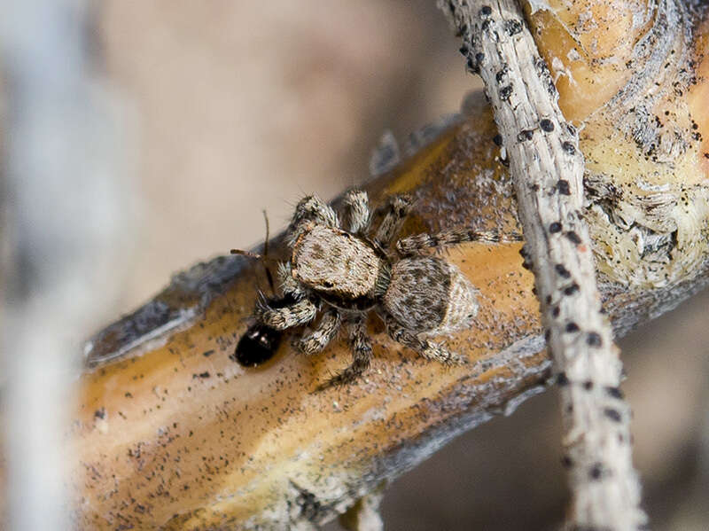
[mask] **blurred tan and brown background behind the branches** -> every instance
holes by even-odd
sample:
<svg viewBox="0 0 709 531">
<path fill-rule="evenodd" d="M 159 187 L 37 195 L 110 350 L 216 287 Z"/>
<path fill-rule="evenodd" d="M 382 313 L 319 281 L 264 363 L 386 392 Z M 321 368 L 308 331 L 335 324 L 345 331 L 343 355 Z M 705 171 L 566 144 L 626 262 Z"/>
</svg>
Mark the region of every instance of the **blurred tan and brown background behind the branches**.
<svg viewBox="0 0 709 531">
<path fill-rule="evenodd" d="M 89 88 L 76 105 L 90 101 L 97 119 L 67 137 L 79 159 L 102 162 L 73 184 L 97 212 L 83 217 L 77 207 L 58 224 L 61 248 L 40 246 L 56 253 L 52 260 L 72 248 L 66 219 L 91 224 L 79 241 L 94 247 L 73 256 L 83 253 L 84 267 L 100 274 L 84 288 L 79 316 L 61 324 L 75 354 L 82 339 L 147 301 L 176 271 L 261 241 L 262 209 L 273 232 L 284 228 L 302 195 L 331 199 L 365 180 L 386 129 L 401 143 L 479 87 L 432 0 L 109 0 L 82 10 L 75 77 Z M 6 56 L 5 66 L 11 62 Z M 14 123 L 7 92 L 4 131 Z M 11 178 L 7 187 L 11 221 L 22 205 L 13 186 L 22 184 Z M 54 204 L 73 193 L 43 195 Z M 23 254 L 7 239 L 5 262 L 16 266 Z M 12 280 L 12 267 L 5 270 Z M 59 295 L 49 308 L 64 308 Z M 33 300 L 21 290 L 17 297 Z M 709 293 L 700 294 L 620 341 L 635 462 L 656 529 L 709 525 L 707 307 Z M 21 338 L 4 341 L 4 378 L 12 378 L 7 353 Z M 386 529 L 557 527 L 566 496 L 558 421 L 550 392 L 452 442 L 389 487 Z"/>
</svg>

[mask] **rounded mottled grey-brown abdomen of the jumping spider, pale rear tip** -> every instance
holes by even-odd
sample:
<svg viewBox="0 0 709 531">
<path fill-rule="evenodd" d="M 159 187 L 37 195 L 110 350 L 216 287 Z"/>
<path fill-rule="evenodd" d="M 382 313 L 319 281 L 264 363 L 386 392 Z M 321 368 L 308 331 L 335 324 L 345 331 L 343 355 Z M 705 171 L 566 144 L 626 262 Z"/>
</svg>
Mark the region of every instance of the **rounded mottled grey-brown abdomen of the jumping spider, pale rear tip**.
<svg viewBox="0 0 709 531">
<path fill-rule="evenodd" d="M 419 333 L 464 328 L 479 308 L 470 280 L 455 265 L 436 256 L 394 263 L 382 302 L 399 324 Z"/>
</svg>

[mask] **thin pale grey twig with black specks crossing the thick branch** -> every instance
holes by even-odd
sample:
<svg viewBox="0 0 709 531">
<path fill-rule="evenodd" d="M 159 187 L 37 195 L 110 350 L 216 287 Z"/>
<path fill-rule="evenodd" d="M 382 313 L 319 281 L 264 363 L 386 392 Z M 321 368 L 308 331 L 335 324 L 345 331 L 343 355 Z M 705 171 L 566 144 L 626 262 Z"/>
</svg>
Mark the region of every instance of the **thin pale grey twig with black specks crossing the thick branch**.
<svg viewBox="0 0 709 531">
<path fill-rule="evenodd" d="M 564 460 L 573 491 L 568 524 L 636 529 L 647 517 L 632 465 L 630 410 L 618 388 L 619 350 L 602 315 L 581 214 L 584 166 L 576 130 L 558 108 L 518 4 L 439 4 L 463 36 L 468 65 L 485 82 L 510 158 L 526 259 L 561 387 Z"/>
</svg>

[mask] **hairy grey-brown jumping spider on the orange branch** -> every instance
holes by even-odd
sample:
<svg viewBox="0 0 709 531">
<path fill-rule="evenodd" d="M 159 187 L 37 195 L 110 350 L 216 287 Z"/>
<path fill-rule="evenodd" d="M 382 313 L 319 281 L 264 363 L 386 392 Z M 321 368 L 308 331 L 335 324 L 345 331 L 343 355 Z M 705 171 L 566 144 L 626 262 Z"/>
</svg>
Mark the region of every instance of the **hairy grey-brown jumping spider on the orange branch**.
<svg viewBox="0 0 709 531">
<path fill-rule="evenodd" d="M 370 231 L 369 199 L 364 191 L 349 191 L 344 199 L 347 223 L 314 196 L 302 199 L 288 227 L 289 262 L 280 263 L 278 280 L 285 305 L 256 305 L 257 324 L 275 330 L 311 323 L 323 310 L 315 329 L 295 340 L 301 352 L 323 350 L 342 324 L 352 347 L 353 363 L 319 389 L 353 382 L 370 366 L 371 342 L 365 318 L 374 310 L 389 336 L 429 360 L 464 363 L 465 358 L 425 338 L 460 330 L 478 312 L 477 291 L 455 265 L 426 254 L 432 247 L 466 241 L 494 243 L 495 232 L 443 230 L 393 239 L 409 214 L 411 200 L 389 199 L 376 231 Z M 370 232 L 372 232 L 370 234 Z M 503 238 L 518 241 L 518 235 Z"/>
</svg>

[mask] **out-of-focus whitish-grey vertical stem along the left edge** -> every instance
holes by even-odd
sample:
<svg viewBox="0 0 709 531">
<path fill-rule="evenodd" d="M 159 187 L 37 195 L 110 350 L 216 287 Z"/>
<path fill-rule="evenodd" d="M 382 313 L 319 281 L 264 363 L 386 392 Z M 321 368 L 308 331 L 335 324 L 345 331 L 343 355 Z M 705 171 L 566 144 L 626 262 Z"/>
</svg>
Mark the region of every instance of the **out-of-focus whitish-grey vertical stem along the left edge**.
<svg viewBox="0 0 709 531">
<path fill-rule="evenodd" d="M 87 5 L 3 7 L 6 528 L 66 529 L 70 386 L 79 341 L 120 287 L 107 275 L 129 237 L 129 182 L 86 58 Z"/>
</svg>

